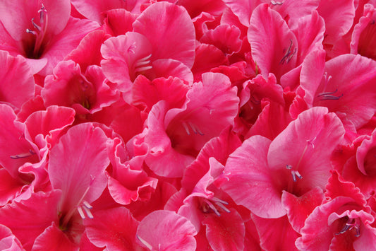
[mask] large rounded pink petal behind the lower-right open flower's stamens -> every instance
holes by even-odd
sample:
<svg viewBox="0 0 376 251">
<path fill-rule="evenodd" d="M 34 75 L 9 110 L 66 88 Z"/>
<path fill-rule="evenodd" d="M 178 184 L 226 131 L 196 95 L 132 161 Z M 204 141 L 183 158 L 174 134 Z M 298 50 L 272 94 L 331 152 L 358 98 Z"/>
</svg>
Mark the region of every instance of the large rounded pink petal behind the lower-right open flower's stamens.
<svg viewBox="0 0 376 251">
<path fill-rule="evenodd" d="M 343 136 L 341 121 L 334 113 L 328 113 L 327 108 L 313 107 L 302 112 L 269 147 L 269 168 L 278 170 L 275 173 L 276 180 L 280 177 L 286 179 L 278 182 L 281 189 L 298 196 L 313 187 L 323 189 L 330 176 L 329 170 L 332 169 L 332 152 L 341 143 Z M 286 168 L 287 165 L 292 170 Z M 293 182 L 291 177 L 291 172 L 295 170 L 302 176 L 297 182 Z"/>
</svg>

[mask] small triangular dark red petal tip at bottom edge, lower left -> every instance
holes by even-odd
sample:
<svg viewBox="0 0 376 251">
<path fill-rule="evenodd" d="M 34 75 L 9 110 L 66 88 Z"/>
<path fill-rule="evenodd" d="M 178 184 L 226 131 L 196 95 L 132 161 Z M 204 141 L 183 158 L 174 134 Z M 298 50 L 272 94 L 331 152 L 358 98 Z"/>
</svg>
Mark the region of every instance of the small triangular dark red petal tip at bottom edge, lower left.
<svg viewBox="0 0 376 251">
<path fill-rule="evenodd" d="M 32 245 L 33 251 L 75 251 L 77 249 L 78 246 L 73 244 L 54 222 L 35 239 L 34 245 Z"/>
</svg>

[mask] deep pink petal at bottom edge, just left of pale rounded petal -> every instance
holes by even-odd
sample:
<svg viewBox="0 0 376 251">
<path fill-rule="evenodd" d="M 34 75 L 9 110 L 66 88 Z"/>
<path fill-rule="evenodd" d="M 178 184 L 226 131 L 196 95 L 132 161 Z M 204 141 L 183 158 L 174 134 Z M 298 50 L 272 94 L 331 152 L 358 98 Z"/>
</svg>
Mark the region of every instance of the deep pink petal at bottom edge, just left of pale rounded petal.
<svg viewBox="0 0 376 251">
<path fill-rule="evenodd" d="M 135 234 L 138 227 L 131 212 L 125 207 L 96 211 L 94 218 L 84 221 L 87 238 L 97 247 L 107 250 L 132 251 L 137 249 Z"/>
</svg>

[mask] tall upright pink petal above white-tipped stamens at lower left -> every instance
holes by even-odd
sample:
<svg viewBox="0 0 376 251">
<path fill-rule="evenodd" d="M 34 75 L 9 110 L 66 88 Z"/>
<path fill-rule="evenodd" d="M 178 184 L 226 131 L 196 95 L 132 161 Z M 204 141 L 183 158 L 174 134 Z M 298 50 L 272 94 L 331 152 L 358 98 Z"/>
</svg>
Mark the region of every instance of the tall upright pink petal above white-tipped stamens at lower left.
<svg viewBox="0 0 376 251">
<path fill-rule="evenodd" d="M 78 124 L 61 136 L 51 148 L 48 170 L 52 186 L 63 191 L 63 214 L 78 206 L 87 189 L 85 201 L 89 203 L 102 194 L 107 185 L 107 165 L 107 136 L 99 127 Z"/>
</svg>

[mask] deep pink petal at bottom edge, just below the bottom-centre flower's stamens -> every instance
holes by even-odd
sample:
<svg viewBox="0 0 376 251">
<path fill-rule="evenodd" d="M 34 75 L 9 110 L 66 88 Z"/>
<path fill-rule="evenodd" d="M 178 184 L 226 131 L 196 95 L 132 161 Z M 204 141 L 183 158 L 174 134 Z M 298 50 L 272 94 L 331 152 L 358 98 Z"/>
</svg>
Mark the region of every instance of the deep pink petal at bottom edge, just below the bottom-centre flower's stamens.
<svg viewBox="0 0 376 251">
<path fill-rule="evenodd" d="M 206 225 L 206 236 L 213 250 L 243 250 L 245 226 L 241 215 L 231 210 L 219 217 L 211 214 L 202 221 Z"/>
</svg>

